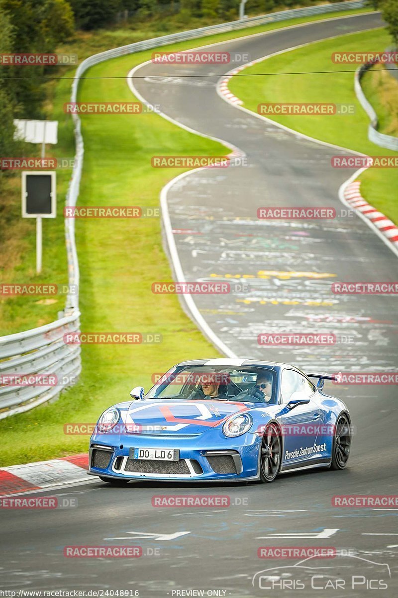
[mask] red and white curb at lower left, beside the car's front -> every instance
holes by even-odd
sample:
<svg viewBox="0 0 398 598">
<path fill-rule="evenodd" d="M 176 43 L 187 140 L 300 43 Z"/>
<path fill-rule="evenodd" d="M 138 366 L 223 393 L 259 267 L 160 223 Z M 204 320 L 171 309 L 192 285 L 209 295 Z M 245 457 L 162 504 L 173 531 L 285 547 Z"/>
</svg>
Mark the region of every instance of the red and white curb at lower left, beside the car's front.
<svg viewBox="0 0 398 598">
<path fill-rule="evenodd" d="M 0 469 L 0 496 L 87 481 L 88 454 Z"/>
</svg>

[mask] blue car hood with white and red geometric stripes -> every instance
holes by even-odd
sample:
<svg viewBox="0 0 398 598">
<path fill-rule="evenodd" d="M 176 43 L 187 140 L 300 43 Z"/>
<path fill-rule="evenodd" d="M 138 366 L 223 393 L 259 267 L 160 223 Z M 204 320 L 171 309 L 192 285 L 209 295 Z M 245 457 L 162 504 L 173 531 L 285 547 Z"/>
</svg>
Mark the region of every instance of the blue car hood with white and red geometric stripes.
<svg viewBox="0 0 398 598">
<path fill-rule="evenodd" d="M 251 406 L 233 401 L 143 399 L 131 403 L 125 424 L 131 434 L 196 435 Z"/>
</svg>

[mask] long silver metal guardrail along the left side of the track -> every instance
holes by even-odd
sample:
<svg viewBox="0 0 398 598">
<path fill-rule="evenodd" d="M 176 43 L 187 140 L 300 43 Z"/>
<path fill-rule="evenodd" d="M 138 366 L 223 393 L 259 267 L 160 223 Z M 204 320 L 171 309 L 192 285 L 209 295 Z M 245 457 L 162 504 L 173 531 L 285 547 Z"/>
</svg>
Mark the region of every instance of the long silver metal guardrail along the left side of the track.
<svg viewBox="0 0 398 598">
<path fill-rule="evenodd" d="M 201 38 L 213 35 L 214 33 L 246 29 L 256 25 L 266 25 L 267 23 L 296 19 L 297 17 L 362 8 L 365 5 L 366 0 L 352 0 L 351 2 L 338 2 L 338 4 L 295 8 L 294 10 L 280 11 L 260 17 L 252 17 L 251 19 L 242 19 L 230 23 L 220 23 L 220 25 L 183 31 L 181 33 L 172 33 L 171 35 L 147 39 L 146 41 L 135 42 L 134 44 L 94 54 L 83 60 L 76 69 L 70 100 L 71 102 L 76 102 L 79 80 L 85 71 L 104 60 L 143 50 L 150 50 L 174 42 Z M 76 155 L 72 179 L 70 180 L 66 196 L 66 205 L 68 206 L 76 205 L 84 158 L 81 121 L 77 114 L 72 114 L 72 118 L 75 128 Z M 67 295 L 64 317 L 46 326 L 0 337 L 0 375 L 54 374 L 54 376 L 57 376 L 58 383 L 56 386 L 51 387 L 0 387 L 0 419 L 27 411 L 45 401 L 56 398 L 61 390 L 76 382 L 76 378 L 81 372 L 80 346 L 66 345 L 63 343 L 62 338 L 64 332 L 79 331 L 79 264 L 75 245 L 75 219 L 73 218 L 65 219 L 65 238 L 69 285 L 74 285 L 77 291 L 75 294 Z"/>
</svg>

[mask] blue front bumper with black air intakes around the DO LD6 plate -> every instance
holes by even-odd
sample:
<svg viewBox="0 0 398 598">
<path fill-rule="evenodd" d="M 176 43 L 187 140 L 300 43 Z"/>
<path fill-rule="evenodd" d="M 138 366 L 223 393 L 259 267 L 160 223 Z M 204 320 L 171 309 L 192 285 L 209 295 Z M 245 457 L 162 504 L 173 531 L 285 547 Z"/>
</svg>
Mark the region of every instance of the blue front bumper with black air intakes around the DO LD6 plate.
<svg viewBox="0 0 398 598">
<path fill-rule="evenodd" d="M 129 480 L 241 481 L 258 478 L 260 439 L 246 432 L 226 438 L 220 431 L 195 436 L 94 434 L 90 440 L 91 475 Z M 178 461 L 129 458 L 132 448 L 178 449 Z"/>
</svg>

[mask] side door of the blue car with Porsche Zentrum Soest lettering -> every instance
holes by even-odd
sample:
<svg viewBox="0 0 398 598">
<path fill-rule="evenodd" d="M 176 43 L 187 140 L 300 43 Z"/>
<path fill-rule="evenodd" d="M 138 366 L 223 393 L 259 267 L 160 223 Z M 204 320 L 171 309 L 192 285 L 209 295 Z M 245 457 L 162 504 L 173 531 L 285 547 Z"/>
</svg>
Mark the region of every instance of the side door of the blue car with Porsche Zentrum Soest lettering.
<svg viewBox="0 0 398 598">
<path fill-rule="evenodd" d="M 294 401 L 306 402 L 294 404 Z M 283 425 L 282 462 L 287 469 L 289 465 L 313 459 L 317 440 L 317 433 L 313 431 L 322 426 L 324 417 L 318 405 L 316 387 L 297 370 L 286 368 L 282 371 L 279 402 Z"/>
</svg>

